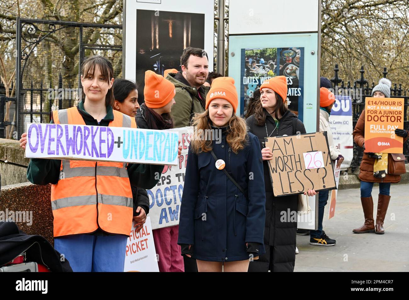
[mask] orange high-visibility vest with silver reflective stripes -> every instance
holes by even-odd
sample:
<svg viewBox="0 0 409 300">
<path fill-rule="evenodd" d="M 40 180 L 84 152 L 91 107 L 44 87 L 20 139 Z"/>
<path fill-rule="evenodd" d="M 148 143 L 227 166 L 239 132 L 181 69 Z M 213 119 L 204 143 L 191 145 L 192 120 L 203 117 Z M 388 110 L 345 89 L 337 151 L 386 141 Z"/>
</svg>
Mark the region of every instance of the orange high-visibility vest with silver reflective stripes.
<svg viewBox="0 0 409 300">
<path fill-rule="evenodd" d="M 134 118 L 113 110 L 110 127 L 136 128 Z M 56 124 L 85 125 L 76 107 L 53 111 Z M 60 178 L 51 186 L 54 237 L 92 233 L 129 235 L 133 201 L 128 163 L 62 160 Z"/>
</svg>

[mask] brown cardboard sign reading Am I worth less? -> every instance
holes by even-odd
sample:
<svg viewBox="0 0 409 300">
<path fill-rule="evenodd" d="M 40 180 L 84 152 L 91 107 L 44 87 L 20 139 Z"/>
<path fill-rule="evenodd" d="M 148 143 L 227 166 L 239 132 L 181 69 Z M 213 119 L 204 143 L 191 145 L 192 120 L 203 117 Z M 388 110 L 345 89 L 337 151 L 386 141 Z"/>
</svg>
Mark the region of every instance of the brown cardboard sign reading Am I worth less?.
<svg viewBox="0 0 409 300">
<path fill-rule="evenodd" d="M 327 133 L 315 132 L 265 139 L 273 152 L 268 161 L 274 196 L 336 188 Z"/>
</svg>

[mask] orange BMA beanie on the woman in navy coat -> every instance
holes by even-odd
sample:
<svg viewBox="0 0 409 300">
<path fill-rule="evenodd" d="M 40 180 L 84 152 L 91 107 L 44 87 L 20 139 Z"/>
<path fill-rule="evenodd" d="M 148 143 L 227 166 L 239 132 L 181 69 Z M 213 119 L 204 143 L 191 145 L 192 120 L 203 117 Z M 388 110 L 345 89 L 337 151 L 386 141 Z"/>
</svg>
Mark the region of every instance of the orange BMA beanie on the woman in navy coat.
<svg viewBox="0 0 409 300">
<path fill-rule="evenodd" d="M 206 109 L 209 107 L 213 99 L 225 99 L 233 106 L 233 111 L 236 113 L 238 106 L 238 96 L 234 79 L 231 77 L 218 77 L 213 79 L 211 88 L 206 96 Z"/>
</svg>

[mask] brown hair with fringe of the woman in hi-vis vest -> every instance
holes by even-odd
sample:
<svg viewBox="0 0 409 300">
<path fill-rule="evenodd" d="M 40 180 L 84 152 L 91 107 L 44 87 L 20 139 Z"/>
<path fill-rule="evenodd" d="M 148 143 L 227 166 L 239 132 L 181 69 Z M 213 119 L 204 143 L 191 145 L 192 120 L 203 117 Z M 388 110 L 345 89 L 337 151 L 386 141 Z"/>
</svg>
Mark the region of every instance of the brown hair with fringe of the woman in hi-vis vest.
<svg viewBox="0 0 409 300">
<path fill-rule="evenodd" d="M 88 75 L 94 76 L 95 66 L 99 67 L 104 80 L 109 83 L 114 78 L 114 69 L 112 63 L 103 56 L 88 56 L 81 64 L 81 75 L 85 78 Z M 81 89 L 82 101 L 85 101 L 84 89 Z M 114 89 L 111 87 L 105 96 L 105 105 L 114 106 Z"/>
</svg>

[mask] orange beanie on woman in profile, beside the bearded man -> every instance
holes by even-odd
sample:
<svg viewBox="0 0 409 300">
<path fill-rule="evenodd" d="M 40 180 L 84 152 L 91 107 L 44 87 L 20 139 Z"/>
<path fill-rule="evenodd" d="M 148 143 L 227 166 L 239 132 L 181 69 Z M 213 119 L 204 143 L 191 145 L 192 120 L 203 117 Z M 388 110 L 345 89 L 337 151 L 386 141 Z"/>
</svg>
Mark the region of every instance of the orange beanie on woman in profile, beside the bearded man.
<svg viewBox="0 0 409 300">
<path fill-rule="evenodd" d="M 153 71 L 145 72 L 144 96 L 147 107 L 164 107 L 176 94 L 175 85 Z"/>
</svg>

